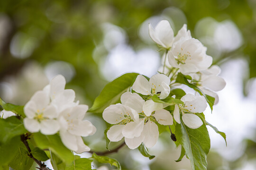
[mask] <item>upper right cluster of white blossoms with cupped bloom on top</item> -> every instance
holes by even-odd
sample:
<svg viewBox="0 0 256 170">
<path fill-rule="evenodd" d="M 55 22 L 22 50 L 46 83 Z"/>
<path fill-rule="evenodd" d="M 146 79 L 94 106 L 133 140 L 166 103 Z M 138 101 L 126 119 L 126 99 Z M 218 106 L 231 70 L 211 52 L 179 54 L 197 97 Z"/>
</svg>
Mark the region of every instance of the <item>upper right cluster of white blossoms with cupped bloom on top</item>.
<svg viewBox="0 0 256 170">
<path fill-rule="evenodd" d="M 212 57 L 206 54 L 207 48 L 202 43 L 192 38 L 187 30 L 187 25 L 174 36 L 174 31 L 167 20 L 160 21 L 155 29 L 149 24 L 149 34 L 153 41 L 166 50 L 163 73 L 172 78 L 177 72 L 192 77 L 191 83 L 197 85 L 205 94 L 219 101 L 215 93 L 222 90 L 226 82 L 219 77 L 220 68 L 211 66 Z M 210 67 L 211 66 L 211 67 Z"/>
</svg>

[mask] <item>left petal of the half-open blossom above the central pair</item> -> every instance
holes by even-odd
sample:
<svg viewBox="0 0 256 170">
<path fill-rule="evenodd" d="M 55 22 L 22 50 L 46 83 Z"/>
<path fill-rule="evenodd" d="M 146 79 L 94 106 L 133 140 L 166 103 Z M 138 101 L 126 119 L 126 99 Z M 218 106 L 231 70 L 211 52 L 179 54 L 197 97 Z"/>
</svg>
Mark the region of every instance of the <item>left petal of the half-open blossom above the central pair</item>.
<svg viewBox="0 0 256 170">
<path fill-rule="evenodd" d="M 143 95 L 150 95 L 151 94 L 151 85 L 147 81 L 147 79 L 142 75 L 137 76 L 134 84 L 132 85 L 132 89 L 135 92 L 141 93 Z"/>
</svg>

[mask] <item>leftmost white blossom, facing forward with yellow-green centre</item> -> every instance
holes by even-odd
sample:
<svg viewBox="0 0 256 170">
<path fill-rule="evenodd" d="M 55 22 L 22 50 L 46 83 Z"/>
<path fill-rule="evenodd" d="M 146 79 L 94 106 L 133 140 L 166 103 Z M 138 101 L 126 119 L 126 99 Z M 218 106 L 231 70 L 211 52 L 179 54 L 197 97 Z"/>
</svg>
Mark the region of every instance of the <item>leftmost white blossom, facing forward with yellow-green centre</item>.
<svg viewBox="0 0 256 170">
<path fill-rule="evenodd" d="M 27 116 L 24 126 L 29 132 L 41 131 L 45 135 L 53 135 L 58 132 L 60 125 L 56 118 L 58 113 L 55 106 L 50 105 L 48 93 L 37 91 L 24 106 L 24 113 Z"/>
</svg>

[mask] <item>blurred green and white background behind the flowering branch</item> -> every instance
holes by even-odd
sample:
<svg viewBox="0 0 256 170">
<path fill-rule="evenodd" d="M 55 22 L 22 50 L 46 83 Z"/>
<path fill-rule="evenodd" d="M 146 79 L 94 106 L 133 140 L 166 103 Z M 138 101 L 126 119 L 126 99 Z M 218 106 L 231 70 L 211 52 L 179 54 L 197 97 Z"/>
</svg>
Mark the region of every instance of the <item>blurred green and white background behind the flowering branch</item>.
<svg viewBox="0 0 256 170">
<path fill-rule="evenodd" d="M 256 170 L 255 0 L 0 0 L 0 96 L 24 105 L 62 74 L 66 88 L 75 90 L 81 104 L 91 106 L 115 77 L 157 72 L 162 54 L 148 35 L 148 23 L 155 26 L 161 19 L 169 20 L 174 33 L 187 24 L 227 81 L 212 114 L 209 108 L 205 113 L 227 134 L 228 142 L 226 146 L 209 129 L 208 170 Z M 97 127 L 86 143 L 92 150 L 104 150 L 101 114 L 87 113 L 86 119 Z M 162 133 L 149 151 L 156 155 L 151 161 L 127 146 L 110 157 L 124 170 L 191 169 L 186 158 L 174 161 L 180 148 L 169 133 Z M 101 167 L 107 169 L 115 168 Z"/>
</svg>

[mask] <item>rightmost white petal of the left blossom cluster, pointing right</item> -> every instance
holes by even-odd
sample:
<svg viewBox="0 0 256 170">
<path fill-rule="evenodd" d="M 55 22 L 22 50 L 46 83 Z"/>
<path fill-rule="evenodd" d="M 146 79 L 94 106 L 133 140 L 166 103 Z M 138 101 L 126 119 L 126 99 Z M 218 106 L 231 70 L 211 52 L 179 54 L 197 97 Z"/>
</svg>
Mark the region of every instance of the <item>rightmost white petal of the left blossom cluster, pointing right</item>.
<svg viewBox="0 0 256 170">
<path fill-rule="evenodd" d="M 94 130 L 94 126 L 90 121 L 77 120 L 73 122 L 72 127 L 68 131 L 76 136 L 89 136 Z"/>
</svg>

